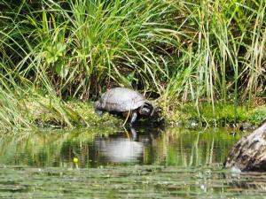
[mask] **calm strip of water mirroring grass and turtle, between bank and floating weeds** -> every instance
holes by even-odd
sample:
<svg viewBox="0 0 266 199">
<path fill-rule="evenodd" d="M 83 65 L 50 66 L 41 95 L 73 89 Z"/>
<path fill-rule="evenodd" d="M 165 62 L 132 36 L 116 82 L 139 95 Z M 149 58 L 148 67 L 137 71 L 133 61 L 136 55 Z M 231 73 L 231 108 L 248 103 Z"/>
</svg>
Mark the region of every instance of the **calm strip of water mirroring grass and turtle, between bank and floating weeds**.
<svg viewBox="0 0 266 199">
<path fill-rule="evenodd" d="M 221 129 L 140 129 L 135 142 L 129 133 L 113 133 L 92 128 L 1 134 L 0 164 L 67 167 L 74 157 L 79 167 L 221 164 L 238 139 Z"/>
</svg>

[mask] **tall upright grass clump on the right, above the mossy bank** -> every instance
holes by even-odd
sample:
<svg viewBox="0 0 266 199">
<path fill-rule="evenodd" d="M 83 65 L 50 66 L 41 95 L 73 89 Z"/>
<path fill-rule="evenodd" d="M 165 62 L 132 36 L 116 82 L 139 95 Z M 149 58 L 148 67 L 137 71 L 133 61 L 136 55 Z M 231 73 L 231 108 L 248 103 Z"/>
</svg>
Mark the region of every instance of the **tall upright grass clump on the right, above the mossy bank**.
<svg viewBox="0 0 266 199">
<path fill-rule="evenodd" d="M 191 39 L 176 60 L 168 96 L 195 104 L 202 99 L 213 104 L 216 100 L 237 104 L 262 95 L 265 2 L 203 1 L 187 5 L 185 12 L 190 14 L 180 29 Z"/>
</svg>

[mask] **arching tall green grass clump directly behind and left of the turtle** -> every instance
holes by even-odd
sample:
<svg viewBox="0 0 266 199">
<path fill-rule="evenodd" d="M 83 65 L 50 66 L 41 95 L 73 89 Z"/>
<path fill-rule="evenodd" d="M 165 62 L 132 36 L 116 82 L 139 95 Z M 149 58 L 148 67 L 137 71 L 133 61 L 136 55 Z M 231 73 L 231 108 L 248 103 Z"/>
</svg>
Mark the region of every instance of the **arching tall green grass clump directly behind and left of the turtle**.
<svg viewBox="0 0 266 199">
<path fill-rule="evenodd" d="M 165 34 L 174 29 L 163 23 L 170 4 L 76 0 L 42 6 L 20 22 L 28 28 L 20 73 L 50 82 L 59 96 L 87 99 L 113 84 L 161 91 L 159 80 L 168 78 L 161 46 L 171 43 Z"/>
</svg>

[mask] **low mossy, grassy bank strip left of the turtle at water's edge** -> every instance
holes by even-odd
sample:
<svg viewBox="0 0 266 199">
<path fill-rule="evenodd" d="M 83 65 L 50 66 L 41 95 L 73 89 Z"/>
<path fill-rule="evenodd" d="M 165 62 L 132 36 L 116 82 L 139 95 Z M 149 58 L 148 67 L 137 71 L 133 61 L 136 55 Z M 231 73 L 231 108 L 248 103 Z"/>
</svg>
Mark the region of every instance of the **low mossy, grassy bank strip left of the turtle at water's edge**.
<svg viewBox="0 0 266 199">
<path fill-rule="evenodd" d="M 121 119 L 110 114 L 99 116 L 93 103 L 82 101 L 62 102 L 45 97 L 24 99 L 25 114 L 38 127 L 90 127 L 121 126 Z"/>
</svg>

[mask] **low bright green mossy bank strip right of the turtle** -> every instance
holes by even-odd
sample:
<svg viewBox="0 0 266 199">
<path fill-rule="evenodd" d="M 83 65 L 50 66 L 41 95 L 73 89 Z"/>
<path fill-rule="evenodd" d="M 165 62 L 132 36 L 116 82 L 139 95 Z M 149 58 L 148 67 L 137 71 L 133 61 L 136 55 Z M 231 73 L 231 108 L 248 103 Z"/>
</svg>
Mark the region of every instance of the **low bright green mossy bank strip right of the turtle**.
<svg viewBox="0 0 266 199">
<path fill-rule="evenodd" d="M 235 106 L 229 103 L 185 103 L 168 114 L 171 125 L 196 126 L 257 126 L 266 119 L 266 104 L 255 107 Z"/>
</svg>

